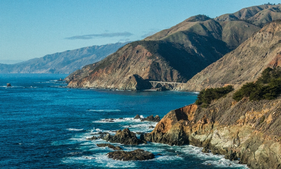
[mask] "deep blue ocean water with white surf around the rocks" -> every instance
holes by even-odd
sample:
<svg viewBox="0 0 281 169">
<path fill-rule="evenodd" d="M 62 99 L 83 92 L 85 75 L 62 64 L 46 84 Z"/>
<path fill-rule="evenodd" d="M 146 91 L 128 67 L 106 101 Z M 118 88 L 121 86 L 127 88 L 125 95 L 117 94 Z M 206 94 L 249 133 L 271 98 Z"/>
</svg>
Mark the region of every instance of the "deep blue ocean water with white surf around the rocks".
<svg viewBox="0 0 281 169">
<path fill-rule="evenodd" d="M 104 140 L 86 138 L 126 127 L 133 132 L 150 132 L 148 127 L 156 123 L 133 120 L 136 114 L 162 118 L 170 110 L 193 103 L 197 94 L 64 88 L 67 84 L 57 79 L 66 76 L 0 74 L 0 168 L 247 168 L 189 145 L 113 143 L 125 151 L 141 148 L 163 156 L 149 161 L 107 158 L 113 150 L 96 146 Z M 6 87 L 6 83 L 13 87 Z M 125 120 L 101 121 L 119 117 Z"/>
</svg>

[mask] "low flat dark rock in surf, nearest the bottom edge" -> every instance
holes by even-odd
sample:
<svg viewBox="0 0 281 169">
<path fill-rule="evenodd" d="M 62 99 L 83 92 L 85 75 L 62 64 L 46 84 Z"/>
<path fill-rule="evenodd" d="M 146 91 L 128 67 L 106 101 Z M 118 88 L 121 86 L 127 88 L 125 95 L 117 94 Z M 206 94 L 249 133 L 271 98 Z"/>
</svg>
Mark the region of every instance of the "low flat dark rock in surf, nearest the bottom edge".
<svg viewBox="0 0 281 169">
<path fill-rule="evenodd" d="M 108 158 L 112 158 L 114 160 L 121 161 L 129 161 L 129 160 L 151 160 L 155 158 L 153 153 L 149 151 L 144 151 L 142 149 L 136 149 L 134 151 L 113 151 L 107 153 Z"/>
</svg>

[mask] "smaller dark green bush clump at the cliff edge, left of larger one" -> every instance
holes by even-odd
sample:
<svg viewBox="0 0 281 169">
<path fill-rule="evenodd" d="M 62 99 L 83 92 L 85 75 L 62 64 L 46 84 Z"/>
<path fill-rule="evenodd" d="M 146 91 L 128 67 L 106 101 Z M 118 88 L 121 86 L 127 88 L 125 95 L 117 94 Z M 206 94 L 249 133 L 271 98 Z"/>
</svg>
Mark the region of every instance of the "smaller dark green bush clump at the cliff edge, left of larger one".
<svg viewBox="0 0 281 169">
<path fill-rule="evenodd" d="M 227 93 L 233 91 L 232 85 L 221 88 L 207 88 L 200 91 L 195 101 L 196 105 L 201 105 L 201 107 L 208 107 L 212 100 L 217 100 Z"/>
</svg>

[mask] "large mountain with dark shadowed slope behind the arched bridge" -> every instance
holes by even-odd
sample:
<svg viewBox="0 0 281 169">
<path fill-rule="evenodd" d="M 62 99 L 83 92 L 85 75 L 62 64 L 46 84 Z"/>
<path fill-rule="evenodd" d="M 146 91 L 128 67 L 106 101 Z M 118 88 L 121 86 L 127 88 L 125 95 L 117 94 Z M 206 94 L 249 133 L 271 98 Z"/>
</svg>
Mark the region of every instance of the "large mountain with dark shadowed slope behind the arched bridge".
<svg viewBox="0 0 281 169">
<path fill-rule="evenodd" d="M 145 80 L 185 83 L 259 31 L 260 23 L 277 19 L 280 8 L 260 5 L 214 19 L 190 17 L 73 72 L 66 78 L 68 86 L 124 89 L 133 74 Z"/>
</svg>

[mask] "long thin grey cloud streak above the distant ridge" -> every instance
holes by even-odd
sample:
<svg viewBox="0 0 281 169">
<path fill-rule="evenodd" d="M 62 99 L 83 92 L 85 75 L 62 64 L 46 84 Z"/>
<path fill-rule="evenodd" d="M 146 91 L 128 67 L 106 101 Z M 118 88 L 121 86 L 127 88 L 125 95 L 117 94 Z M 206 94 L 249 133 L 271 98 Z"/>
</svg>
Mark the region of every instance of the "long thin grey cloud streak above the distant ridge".
<svg viewBox="0 0 281 169">
<path fill-rule="evenodd" d="M 66 37 L 64 39 L 69 39 L 69 40 L 75 40 L 75 39 L 92 39 L 95 37 L 129 37 L 133 35 L 130 32 L 116 32 L 116 33 L 101 33 L 101 34 L 90 34 L 90 35 L 78 35 L 78 36 L 72 36 L 72 37 Z"/>
</svg>

